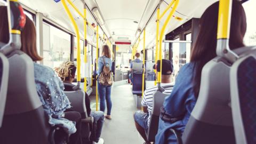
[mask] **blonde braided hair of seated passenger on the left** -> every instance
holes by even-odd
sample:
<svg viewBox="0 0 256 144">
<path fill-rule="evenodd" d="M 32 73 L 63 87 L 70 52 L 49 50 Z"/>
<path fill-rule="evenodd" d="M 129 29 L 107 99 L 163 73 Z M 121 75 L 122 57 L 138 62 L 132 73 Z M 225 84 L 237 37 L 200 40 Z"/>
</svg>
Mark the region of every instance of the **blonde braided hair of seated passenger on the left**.
<svg viewBox="0 0 256 144">
<path fill-rule="evenodd" d="M 60 67 L 54 68 L 58 76 L 65 81 L 66 78 L 72 77 L 71 70 L 75 68 L 75 64 L 72 61 L 66 61 L 61 63 Z"/>
</svg>

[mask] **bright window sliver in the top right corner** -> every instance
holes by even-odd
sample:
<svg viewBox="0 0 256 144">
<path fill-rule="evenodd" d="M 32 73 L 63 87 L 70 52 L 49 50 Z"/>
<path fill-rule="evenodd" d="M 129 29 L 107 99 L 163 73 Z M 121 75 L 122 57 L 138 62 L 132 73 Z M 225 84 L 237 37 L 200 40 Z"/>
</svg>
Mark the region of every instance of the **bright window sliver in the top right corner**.
<svg viewBox="0 0 256 144">
<path fill-rule="evenodd" d="M 256 45 L 255 5 L 256 1 L 247 1 L 243 3 L 247 19 L 247 30 L 244 36 L 244 43 L 246 46 Z"/>
</svg>

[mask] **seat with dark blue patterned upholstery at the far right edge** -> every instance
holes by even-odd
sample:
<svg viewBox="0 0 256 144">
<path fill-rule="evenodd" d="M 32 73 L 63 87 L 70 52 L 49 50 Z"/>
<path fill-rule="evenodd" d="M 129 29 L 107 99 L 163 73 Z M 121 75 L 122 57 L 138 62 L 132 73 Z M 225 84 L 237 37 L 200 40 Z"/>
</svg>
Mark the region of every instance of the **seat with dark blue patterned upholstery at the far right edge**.
<svg viewBox="0 0 256 144">
<path fill-rule="evenodd" d="M 256 143 L 256 47 L 230 69 L 230 91 L 236 143 Z"/>
</svg>

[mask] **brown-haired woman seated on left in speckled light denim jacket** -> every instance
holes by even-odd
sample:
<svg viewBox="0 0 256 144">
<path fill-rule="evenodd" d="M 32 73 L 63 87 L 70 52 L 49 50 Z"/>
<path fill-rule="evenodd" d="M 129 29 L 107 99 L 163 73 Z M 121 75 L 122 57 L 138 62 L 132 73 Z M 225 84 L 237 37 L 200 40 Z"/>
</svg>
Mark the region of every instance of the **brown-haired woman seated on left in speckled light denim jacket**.
<svg viewBox="0 0 256 144">
<path fill-rule="evenodd" d="M 8 43 L 7 10 L 3 6 L 0 6 L 0 22 L 0 41 Z M 26 17 L 25 27 L 21 31 L 21 51 L 25 52 L 34 61 L 36 91 L 49 118 L 49 124 L 62 127 L 66 133 L 71 134 L 69 143 L 77 143 L 81 127 L 81 122 L 79 122 L 81 115 L 75 111 L 67 113 L 67 115 L 64 114 L 64 111 L 70 108 L 70 102 L 63 92 L 63 83 L 54 74 L 53 69 L 36 63 L 36 61 L 41 61 L 43 58 L 37 53 L 35 25 L 28 17 Z M 64 115 L 65 118 L 62 117 Z M 63 139 L 60 139 L 63 138 L 60 137 L 62 134 L 60 135 L 58 132 L 55 134 L 56 139 L 63 141 Z"/>
</svg>

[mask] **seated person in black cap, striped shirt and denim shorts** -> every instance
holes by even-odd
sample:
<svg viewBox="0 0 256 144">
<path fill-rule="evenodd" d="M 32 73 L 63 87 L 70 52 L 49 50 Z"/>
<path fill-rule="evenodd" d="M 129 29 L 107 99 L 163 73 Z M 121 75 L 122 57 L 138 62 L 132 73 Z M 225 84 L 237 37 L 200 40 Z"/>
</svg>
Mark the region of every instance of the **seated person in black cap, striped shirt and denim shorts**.
<svg viewBox="0 0 256 144">
<path fill-rule="evenodd" d="M 172 82 L 172 72 L 173 72 L 173 65 L 170 60 L 162 60 L 162 82 L 161 86 L 165 85 L 173 85 Z M 158 72 L 160 71 L 160 60 L 157 61 L 157 64 L 153 67 Z M 140 133 L 141 137 L 147 142 L 146 132 L 148 130 L 149 119 L 151 117 L 151 111 L 153 109 L 153 96 L 154 93 L 157 91 L 157 86 L 150 87 L 146 89 L 143 93 L 143 98 L 141 101 L 142 110 L 136 111 L 134 114 L 134 121 L 135 126 Z M 166 88 L 164 93 L 171 94 L 172 87 Z"/>
</svg>

